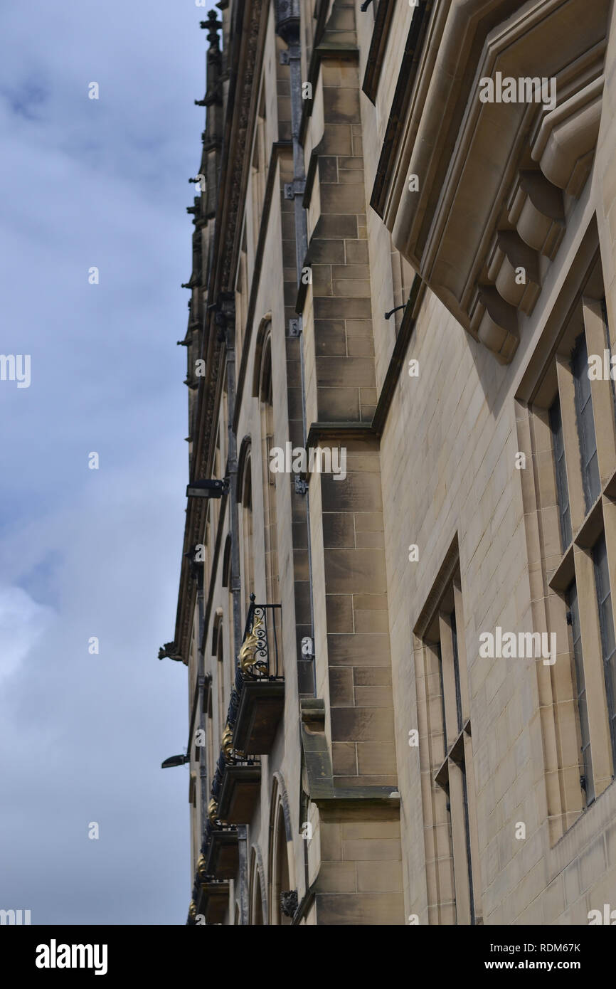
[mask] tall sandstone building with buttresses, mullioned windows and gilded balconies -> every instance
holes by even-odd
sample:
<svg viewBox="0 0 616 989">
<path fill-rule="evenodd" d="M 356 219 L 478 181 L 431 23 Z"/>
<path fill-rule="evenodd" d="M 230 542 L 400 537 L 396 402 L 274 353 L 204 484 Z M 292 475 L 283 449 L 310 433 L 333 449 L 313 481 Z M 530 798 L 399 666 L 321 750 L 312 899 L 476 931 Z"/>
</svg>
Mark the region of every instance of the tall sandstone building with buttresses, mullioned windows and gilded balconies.
<svg viewBox="0 0 616 989">
<path fill-rule="evenodd" d="M 188 922 L 594 923 L 612 5 L 221 0 L 202 26 L 160 654 L 188 671 Z"/>
</svg>

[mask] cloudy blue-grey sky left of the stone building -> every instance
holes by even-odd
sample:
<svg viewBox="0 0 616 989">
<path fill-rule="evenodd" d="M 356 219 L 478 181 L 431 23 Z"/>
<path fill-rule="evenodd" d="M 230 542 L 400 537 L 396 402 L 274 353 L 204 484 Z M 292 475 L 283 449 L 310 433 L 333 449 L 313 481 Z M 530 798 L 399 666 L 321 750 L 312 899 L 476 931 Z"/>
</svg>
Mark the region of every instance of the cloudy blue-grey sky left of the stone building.
<svg viewBox="0 0 616 989">
<path fill-rule="evenodd" d="M 188 770 L 160 769 L 185 751 L 186 670 L 157 651 L 186 505 L 176 340 L 206 14 L 195 0 L 0 11 L 0 353 L 31 355 L 30 387 L 0 381 L 0 908 L 33 924 L 188 911 Z"/>
</svg>

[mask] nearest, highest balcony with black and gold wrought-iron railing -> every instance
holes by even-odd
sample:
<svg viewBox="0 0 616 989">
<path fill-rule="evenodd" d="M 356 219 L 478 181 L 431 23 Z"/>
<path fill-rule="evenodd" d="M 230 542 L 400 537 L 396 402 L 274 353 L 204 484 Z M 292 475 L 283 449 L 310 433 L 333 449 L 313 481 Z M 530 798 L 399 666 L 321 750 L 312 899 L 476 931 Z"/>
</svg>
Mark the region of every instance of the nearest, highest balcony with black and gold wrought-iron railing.
<svg viewBox="0 0 616 989">
<path fill-rule="evenodd" d="M 228 710 L 236 753 L 266 756 L 274 745 L 285 706 L 280 614 L 280 604 L 256 604 L 254 594 L 250 595 Z"/>
</svg>

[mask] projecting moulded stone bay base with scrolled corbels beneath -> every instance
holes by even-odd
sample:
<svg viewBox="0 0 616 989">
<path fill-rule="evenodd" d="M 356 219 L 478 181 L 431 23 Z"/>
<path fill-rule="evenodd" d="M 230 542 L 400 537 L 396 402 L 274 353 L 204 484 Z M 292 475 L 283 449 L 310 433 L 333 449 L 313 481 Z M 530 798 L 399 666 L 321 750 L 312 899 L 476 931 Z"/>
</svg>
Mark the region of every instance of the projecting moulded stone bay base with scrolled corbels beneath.
<svg viewBox="0 0 616 989">
<path fill-rule="evenodd" d="M 453 0 L 431 14 L 384 219 L 503 363 L 590 173 L 609 10 L 609 0 Z"/>
</svg>

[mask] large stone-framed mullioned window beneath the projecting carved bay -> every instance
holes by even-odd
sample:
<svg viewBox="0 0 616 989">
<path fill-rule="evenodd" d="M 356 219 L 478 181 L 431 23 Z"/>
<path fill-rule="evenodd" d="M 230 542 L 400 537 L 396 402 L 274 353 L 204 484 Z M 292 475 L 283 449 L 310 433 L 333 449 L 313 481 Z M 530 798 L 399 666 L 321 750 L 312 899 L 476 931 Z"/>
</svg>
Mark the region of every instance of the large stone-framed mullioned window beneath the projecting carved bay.
<svg viewBox="0 0 616 989">
<path fill-rule="evenodd" d="M 598 235 L 583 281 L 564 290 L 564 297 L 570 291 L 569 315 L 551 344 L 554 358 L 525 383 L 533 408 L 528 433 L 526 426 L 519 433 L 521 444 L 530 437 L 534 460 L 533 480 L 523 493 L 525 515 L 536 512 L 538 523 L 529 574 L 533 583 L 533 572 L 540 569 L 543 579 L 543 588 L 537 581 L 532 593 L 531 615 L 535 627 L 547 628 L 552 642 L 556 639 L 554 665 L 542 670 L 545 772 L 559 779 L 558 787 L 548 787 L 552 845 L 609 786 L 616 765 L 616 657 L 607 567 L 608 554 L 610 562 L 616 559 L 611 517 L 616 422 L 614 393 L 596 367 L 598 361 L 602 371 L 606 350 L 611 355 Z"/>
</svg>

